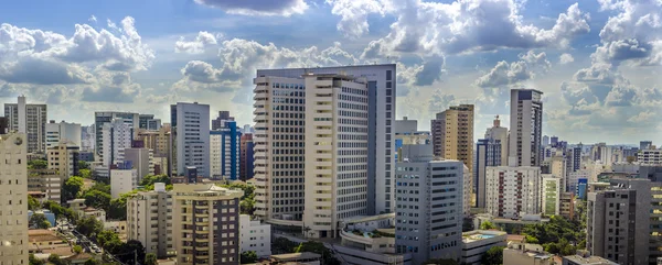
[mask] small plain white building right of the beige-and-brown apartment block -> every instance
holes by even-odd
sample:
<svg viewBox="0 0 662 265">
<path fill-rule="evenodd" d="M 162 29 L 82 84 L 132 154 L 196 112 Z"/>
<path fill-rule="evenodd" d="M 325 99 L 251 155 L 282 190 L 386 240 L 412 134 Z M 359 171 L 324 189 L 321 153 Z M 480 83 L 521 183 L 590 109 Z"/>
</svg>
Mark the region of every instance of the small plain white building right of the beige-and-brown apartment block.
<svg viewBox="0 0 662 265">
<path fill-rule="evenodd" d="M 271 255 L 271 225 L 250 216 L 239 216 L 239 253 L 254 251 L 258 257 Z"/>
</svg>

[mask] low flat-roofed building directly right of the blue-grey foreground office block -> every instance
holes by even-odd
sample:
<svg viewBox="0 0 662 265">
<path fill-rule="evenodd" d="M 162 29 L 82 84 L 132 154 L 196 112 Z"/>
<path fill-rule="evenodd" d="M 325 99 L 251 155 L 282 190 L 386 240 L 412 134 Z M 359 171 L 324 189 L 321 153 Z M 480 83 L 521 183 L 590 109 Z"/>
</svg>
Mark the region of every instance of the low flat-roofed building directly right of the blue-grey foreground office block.
<svg viewBox="0 0 662 265">
<path fill-rule="evenodd" d="M 462 233 L 462 264 L 480 265 L 480 258 L 493 246 L 506 246 L 502 231 L 474 230 Z"/>
</svg>

